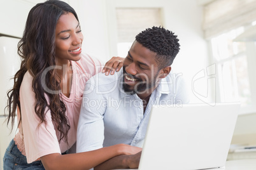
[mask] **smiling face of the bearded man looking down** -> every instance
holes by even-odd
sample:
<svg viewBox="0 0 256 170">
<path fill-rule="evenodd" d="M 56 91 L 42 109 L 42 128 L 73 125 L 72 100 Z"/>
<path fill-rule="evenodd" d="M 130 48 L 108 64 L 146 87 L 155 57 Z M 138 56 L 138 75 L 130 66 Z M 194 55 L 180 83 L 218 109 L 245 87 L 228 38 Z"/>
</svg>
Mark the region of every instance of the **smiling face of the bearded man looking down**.
<svg viewBox="0 0 256 170">
<path fill-rule="evenodd" d="M 156 88 L 159 68 L 155 62 L 157 53 L 134 41 L 124 60 L 123 88 L 129 94 L 142 94 Z"/>
</svg>

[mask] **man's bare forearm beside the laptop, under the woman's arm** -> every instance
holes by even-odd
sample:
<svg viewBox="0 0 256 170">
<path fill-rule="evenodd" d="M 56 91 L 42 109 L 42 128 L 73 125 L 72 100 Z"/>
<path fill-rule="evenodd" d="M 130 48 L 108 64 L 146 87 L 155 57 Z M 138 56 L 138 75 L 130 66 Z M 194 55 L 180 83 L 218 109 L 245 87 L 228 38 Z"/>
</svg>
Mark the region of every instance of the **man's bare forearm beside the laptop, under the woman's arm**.
<svg viewBox="0 0 256 170">
<path fill-rule="evenodd" d="M 138 168 L 141 152 L 134 155 L 119 155 L 94 167 L 94 170 Z"/>
</svg>

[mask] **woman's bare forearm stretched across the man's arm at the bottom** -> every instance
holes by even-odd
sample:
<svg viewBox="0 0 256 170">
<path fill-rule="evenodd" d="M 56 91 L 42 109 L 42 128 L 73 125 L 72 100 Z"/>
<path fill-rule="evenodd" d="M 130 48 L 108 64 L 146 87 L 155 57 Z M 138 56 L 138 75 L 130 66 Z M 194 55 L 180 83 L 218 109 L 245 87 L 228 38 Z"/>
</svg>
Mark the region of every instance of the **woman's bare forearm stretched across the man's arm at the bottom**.
<svg viewBox="0 0 256 170">
<path fill-rule="evenodd" d="M 118 144 L 76 154 L 49 154 L 41 157 L 41 161 L 45 169 L 90 169 L 117 155 L 136 154 L 140 150 L 138 147 Z"/>
</svg>

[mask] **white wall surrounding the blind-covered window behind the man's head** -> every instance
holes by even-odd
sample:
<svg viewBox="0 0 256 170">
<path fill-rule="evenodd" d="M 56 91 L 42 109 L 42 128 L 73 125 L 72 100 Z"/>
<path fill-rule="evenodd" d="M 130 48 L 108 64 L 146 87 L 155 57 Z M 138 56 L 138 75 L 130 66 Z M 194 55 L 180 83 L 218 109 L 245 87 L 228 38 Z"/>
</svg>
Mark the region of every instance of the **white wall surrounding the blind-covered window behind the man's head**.
<svg viewBox="0 0 256 170">
<path fill-rule="evenodd" d="M 163 20 L 166 29 L 172 30 L 178 35 L 181 51 L 173 63 L 174 72 L 181 72 L 188 83 L 190 98 L 193 103 L 213 101 L 211 87 L 207 89 L 207 79 L 200 79 L 199 84 L 206 85 L 204 91 L 210 91 L 207 97 L 201 98 L 192 91 L 193 77 L 208 63 L 208 47 L 203 39 L 201 23 L 203 10 L 197 5 L 196 0 L 187 1 L 148 1 L 148 0 L 83 0 L 70 1 L 80 17 L 84 34 L 83 49 L 89 54 L 106 61 L 111 56 L 117 55 L 117 23 L 115 8 L 120 7 L 157 7 L 163 9 Z M 158 26 L 158 25 L 157 25 Z M 138 32 L 139 33 L 139 32 Z M 202 89 L 197 87 L 197 89 Z M 199 98 L 198 98 L 199 97 Z M 213 96 L 214 99 L 214 96 Z M 202 101 L 203 100 L 203 101 Z"/>
</svg>

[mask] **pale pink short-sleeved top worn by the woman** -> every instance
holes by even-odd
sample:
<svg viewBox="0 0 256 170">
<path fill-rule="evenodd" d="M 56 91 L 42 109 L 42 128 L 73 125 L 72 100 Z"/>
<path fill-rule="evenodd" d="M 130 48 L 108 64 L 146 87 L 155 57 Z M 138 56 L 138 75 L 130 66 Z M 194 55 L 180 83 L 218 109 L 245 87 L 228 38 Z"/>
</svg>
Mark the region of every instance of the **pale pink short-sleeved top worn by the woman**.
<svg viewBox="0 0 256 170">
<path fill-rule="evenodd" d="M 20 86 L 20 106 L 22 123 L 18 127 L 15 135 L 15 143 L 20 152 L 27 157 L 27 162 L 31 163 L 39 160 L 40 157 L 53 153 L 63 153 L 71 148 L 76 142 L 76 129 L 80 107 L 82 103 L 85 82 L 97 74 L 103 68 L 103 64 L 96 58 L 83 54 L 78 62 L 71 61 L 73 69 L 72 85 L 69 98 L 62 95 L 66 105 L 66 115 L 69 119 L 70 129 L 68 132 L 68 143 L 63 140 L 59 143 L 59 131 L 57 131 L 51 119 L 50 110 L 46 109 L 47 123 L 38 126 L 40 119 L 34 112 L 35 96 L 32 90 L 33 77 L 26 72 Z M 47 89 L 46 89 L 47 90 Z M 48 98 L 46 97 L 46 100 Z M 18 121 L 20 112 L 17 110 Z"/>
</svg>

